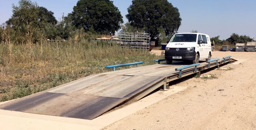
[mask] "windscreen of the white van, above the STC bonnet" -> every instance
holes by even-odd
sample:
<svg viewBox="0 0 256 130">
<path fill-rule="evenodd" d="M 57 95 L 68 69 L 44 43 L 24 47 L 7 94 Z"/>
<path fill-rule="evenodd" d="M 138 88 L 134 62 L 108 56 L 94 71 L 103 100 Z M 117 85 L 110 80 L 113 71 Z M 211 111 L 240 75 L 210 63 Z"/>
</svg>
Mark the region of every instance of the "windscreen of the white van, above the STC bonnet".
<svg viewBox="0 0 256 130">
<path fill-rule="evenodd" d="M 196 42 L 196 34 L 175 34 L 170 42 Z"/>
</svg>

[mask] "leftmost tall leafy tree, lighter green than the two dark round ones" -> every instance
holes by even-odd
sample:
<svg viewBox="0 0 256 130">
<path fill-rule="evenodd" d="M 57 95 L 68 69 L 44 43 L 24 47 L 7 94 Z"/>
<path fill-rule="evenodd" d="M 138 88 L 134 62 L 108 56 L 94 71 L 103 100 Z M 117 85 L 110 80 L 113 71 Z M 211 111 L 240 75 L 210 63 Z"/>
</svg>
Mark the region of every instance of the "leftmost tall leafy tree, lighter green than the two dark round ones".
<svg viewBox="0 0 256 130">
<path fill-rule="evenodd" d="M 35 43 L 40 34 L 40 28 L 47 23 L 56 23 L 56 19 L 51 11 L 44 7 L 39 7 L 30 0 L 20 0 L 19 6 L 12 4 L 12 17 L 6 21 L 16 32 L 19 42 L 26 41 L 27 44 Z"/>
</svg>

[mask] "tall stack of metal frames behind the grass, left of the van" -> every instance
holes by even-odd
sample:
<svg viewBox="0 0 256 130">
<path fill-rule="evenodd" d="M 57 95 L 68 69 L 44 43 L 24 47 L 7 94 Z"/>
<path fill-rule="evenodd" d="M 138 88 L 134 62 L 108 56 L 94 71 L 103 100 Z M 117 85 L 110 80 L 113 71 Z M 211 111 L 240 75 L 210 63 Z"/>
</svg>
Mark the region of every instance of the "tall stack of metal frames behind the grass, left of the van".
<svg viewBox="0 0 256 130">
<path fill-rule="evenodd" d="M 122 47 L 130 47 L 135 50 L 148 50 L 150 48 L 150 34 L 149 33 L 127 33 L 120 32 L 117 35 L 118 45 Z"/>
</svg>

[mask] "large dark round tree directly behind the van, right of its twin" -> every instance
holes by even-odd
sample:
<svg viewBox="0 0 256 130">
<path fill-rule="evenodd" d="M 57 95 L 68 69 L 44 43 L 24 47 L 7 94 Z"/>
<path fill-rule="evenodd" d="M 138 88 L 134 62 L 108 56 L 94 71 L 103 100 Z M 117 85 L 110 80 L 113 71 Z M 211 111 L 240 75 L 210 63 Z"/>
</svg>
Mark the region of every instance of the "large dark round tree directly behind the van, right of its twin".
<svg viewBox="0 0 256 130">
<path fill-rule="evenodd" d="M 181 25 L 178 8 L 167 0 L 132 0 L 126 15 L 130 24 L 150 33 L 150 38 L 157 41 L 161 28 L 165 35 L 173 35 Z"/>
</svg>

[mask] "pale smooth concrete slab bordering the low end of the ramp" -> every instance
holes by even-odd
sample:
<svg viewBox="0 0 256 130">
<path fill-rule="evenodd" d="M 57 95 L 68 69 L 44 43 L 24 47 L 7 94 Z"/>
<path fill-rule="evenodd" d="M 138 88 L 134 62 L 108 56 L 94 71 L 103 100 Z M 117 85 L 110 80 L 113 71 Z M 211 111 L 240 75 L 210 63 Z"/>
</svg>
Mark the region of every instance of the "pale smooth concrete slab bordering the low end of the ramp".
<svg viewBox="0 0 256 130">
<path fill-rule="evenodd" d="M 100 130 L 117 120 L 168 97 L 169 95 L 186 89 L 184 86 L 172 87 L 173 89 L 168 91 L 157 91 L 135 103 L 99 116 L 93 120 L 0 110 L 0 125 L 4 130 Z"/>
</svg>

